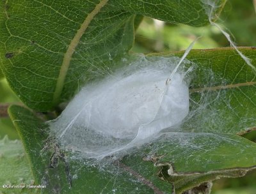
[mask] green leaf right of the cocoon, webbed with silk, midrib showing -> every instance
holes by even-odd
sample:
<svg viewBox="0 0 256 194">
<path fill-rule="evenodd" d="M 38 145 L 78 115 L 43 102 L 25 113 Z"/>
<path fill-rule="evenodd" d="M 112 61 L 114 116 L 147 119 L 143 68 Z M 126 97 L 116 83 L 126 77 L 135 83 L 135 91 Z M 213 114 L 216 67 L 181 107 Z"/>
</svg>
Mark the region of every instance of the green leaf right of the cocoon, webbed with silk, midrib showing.
<svg viewBox="0 0 256 194">
<path fill-rule="evenodd" d="M 239 50 L 256 64 L 256 50 Z M 150 56 L 182 56 L 151 54 Z M 233 48 L 191 50 L 190 112 L 183 131 L 241 134 L 255 129 L 255 73 Z"/>
</svg>

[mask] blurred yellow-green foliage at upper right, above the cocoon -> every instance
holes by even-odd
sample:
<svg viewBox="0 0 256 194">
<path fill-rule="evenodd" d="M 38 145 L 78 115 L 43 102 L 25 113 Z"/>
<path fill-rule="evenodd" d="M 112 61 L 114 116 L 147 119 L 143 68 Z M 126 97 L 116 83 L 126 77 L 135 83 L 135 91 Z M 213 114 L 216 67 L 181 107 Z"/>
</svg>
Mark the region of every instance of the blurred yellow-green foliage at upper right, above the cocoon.
<svg viewBox="0 0 256 194">
<path fill-rule="evenodd" d="M 229 0 L 218 24 L 231 34 L 237 46 L 256 45 L 256 15 L 253 0 Z M 214 26 L 191 27 L 183 24 L 164 24 L 147 17 L 136 33 L 134 52 L 170 52 L 184 50 L 196 37 L 202 36 L 194 48 L 228 47 L 225 36 Z"/>
</svg>

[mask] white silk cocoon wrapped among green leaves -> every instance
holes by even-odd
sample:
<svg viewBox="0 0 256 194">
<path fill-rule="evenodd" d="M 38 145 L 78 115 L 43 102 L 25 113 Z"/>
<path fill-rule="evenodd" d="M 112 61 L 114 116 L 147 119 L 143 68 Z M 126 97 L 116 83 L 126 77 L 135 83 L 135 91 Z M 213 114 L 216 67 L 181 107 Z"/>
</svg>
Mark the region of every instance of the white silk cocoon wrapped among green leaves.
<svg viewBox="0 0 256 194">
<path fill-rule="evenodd" d="M 138 60 L 104 80 L 84 86 L 51 131 L 65 149 L 86 158 L 103 158 L 154 138 L 179 125 L 189 112 L 179 58 Z M 180 68 L 179 68 L 180 69 Z"/>
</svg>

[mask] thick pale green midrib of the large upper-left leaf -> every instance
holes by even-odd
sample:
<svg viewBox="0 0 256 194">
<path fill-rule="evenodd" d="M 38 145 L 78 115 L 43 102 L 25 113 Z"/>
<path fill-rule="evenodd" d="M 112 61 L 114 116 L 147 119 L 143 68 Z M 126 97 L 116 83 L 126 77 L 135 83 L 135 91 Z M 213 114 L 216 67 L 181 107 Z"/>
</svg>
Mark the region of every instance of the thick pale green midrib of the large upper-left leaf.
<svg viewBox="0 0 256 194">
<path fill-rule="evenodd" d="M 100 3 L 96 4 L 94 10 L 92 10 L 92 12 L 86 16 L 83 24 L 81 24 L 81 27 L 77 30 L 77 33 L 75 34 L 74 38 L 70 41 L 70 44 L 68 45 L 68 48 L 67 48 L 67 52 L 64 54 L 64 57 L 63 57 L 63 62 L 61 64 L 60 73 L 56 83 L 56 88 L 53 94 L 52 104 L 54 106 L 58 105 L 60 101 L 60 96 L 63 91 L 65 78 L 67 77 L 67 71 L 79 41 L 81 40 L 84 32 L 86 31 L 87 27 L 90 25 L 90 22 L 92 22 L 95 15 L 97 15 L 97 13 L 99 13 L 99 11 L 107 3 L 108 3 L 108 0 L 102 0 L 100 1 Z"/>
</svg>

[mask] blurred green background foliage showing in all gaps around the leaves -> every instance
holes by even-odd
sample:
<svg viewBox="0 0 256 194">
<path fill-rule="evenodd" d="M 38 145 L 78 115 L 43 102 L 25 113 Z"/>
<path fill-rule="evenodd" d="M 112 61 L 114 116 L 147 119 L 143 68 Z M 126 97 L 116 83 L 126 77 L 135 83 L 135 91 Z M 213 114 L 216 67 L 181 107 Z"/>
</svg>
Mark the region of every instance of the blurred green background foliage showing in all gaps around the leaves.
<svg viewBox="0 0 256 194">
<path fill-rule="evenodd" d="M 256 47 L 255 0 L 229 0 L 218 24 L 232 34 L 237 46 Z M 255 1 L 256 2 L 256 1 Z M 145 17 L 135 36 L 132 52 L 172 52 L 184 50 L 196 37 L 202 36 L 194 48 L 228 47 L 229 43 L 214 26 L 190 27 L 181 24 L 166 24 L 159 20 Z M 19 98 L 12 92 L 0 70 L 0 103 L 13 103 Z M 9 118 L 0 118 L 0 138 L 8 135 L 10 139 L 19 136 Z M 256 132 L 244 137 L 256 142 Z M 220 179 L 214 181 L 214 194 L 254 194 L 256 193 L 256 172 L 237 179 Z"/>
</svg>

